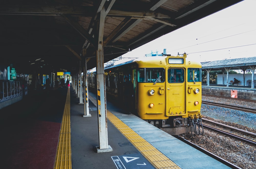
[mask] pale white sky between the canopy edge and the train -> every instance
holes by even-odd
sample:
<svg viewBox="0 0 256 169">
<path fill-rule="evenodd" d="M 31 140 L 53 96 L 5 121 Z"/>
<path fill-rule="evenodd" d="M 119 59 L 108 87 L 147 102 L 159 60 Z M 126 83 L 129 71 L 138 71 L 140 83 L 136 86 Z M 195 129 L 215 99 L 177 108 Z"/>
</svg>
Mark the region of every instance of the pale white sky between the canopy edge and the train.
<svg viewBox="0 0 256 169">
<path fill-rule="evenodd" d="M 244 0 L 159 37 L 123 58 L 144 57 L 151 52 L 187 57 L 199 62 L 255 57 L 256 0 Z"/>
</svg>

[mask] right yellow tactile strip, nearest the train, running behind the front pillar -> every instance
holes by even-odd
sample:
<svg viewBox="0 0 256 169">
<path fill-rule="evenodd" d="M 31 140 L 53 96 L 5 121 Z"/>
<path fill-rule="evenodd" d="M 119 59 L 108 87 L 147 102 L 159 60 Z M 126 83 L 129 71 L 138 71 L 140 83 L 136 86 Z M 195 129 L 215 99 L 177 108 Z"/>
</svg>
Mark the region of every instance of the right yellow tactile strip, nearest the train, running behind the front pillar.
<svg viewBox="0 0 256 169">
<path fill-rule="evenodd" d="M 97 106 L 94 98 L 89 96 L 92 103 Z M 119 131 L 156 167 L 161 169 L 180 169 L 180 167 L 158 151 L 154 146 L 139 136 L 129 126 L 107 110 L 107 118 Z"/>
</svg>

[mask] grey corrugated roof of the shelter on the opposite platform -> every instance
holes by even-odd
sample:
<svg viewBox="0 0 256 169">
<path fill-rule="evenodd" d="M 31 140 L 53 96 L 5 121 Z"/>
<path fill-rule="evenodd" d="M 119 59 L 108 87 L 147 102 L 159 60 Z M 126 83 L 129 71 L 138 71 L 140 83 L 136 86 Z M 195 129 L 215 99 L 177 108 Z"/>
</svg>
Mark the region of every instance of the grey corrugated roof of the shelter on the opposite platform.
<svg viewBox="0 0 256 169">
<path fill-rule="evenodd" d="M 221 70 L 221 68 L 242 69 L 256 66 L 256 57 L 227 59 L 221 61 L 201 62 L 202 69 Z"/>
</svg>

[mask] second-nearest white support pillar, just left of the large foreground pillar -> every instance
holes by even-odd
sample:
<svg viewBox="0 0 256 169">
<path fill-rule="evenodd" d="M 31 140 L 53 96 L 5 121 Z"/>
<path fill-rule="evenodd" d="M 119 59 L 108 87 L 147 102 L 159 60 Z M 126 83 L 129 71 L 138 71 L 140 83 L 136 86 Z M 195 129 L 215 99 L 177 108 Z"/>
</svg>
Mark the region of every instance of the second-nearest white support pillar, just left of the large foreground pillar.
<svg viewBox="0 0 256 169">
<path fill-rule="evenodd" d="M 83 117 L 91 117 L 92 115 L 89 113 L 89 98 L 88 98 L 88 82 L 87 82 L 87 62 L 85 59 L 85 63 L 83 66 L 83 98 L 84 98 L 84 115 Z"/>
</svg>

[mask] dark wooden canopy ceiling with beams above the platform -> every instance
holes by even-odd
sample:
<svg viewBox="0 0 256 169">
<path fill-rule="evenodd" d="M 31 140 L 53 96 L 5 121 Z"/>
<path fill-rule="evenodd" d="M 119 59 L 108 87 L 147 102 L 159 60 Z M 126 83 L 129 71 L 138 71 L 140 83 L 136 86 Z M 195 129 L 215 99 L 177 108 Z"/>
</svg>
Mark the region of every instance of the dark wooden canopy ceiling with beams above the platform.
<svg viewBox="0 0 256 169">
<path fill-rule="evenodd" d="M 242 0 L 8 0 L 0 2 L 0 65 L 18 73 L 96 66 L 97 14 L 106 11 L 104 62 Z M 191 30 L 193 33 L 193 30 Z M 149 49 L 151 50 L 151 49 Z M 146 51 L 145 51 L 146 52 Z M 135 56 L 136 57 L 136 56 Z"/>
</svg>

